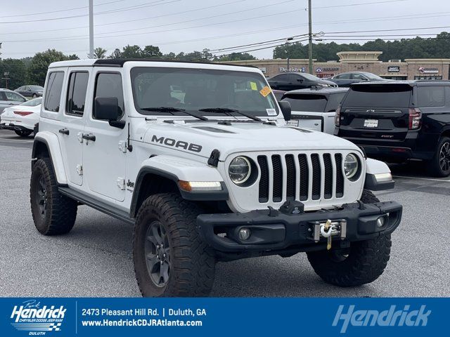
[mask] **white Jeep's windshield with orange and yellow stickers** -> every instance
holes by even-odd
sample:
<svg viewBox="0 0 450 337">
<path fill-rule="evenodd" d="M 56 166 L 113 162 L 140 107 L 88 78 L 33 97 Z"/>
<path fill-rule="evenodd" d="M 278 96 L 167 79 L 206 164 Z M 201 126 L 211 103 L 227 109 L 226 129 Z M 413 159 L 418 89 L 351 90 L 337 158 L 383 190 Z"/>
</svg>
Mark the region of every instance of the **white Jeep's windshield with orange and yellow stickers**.
<svg viewBox="0 0 450 337">
<path fill-rule="evenodd" d="M 278 114 L 264 77 L 253 72 L 134 67 L 131 86 L 134 106 L 141 114 L 186 116 L 183 112 L 146 110 L 149 107 L 174 107 L 203 116 L 240 116 L 236 112 L 199 112 L 217 107 L 259 117 Z"/>
</svg>

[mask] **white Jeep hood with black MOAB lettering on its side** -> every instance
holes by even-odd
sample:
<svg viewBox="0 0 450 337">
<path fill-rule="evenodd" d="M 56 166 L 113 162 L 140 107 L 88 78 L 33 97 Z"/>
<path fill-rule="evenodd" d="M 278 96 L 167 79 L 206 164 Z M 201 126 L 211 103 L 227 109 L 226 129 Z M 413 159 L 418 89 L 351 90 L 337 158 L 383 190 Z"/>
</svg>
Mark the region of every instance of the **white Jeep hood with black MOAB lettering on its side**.
<svg viewBox="0 0 450 337">
<path fill-rule="evenodd" d="M 243 121 L 231 121 L 231 125 L 217 124 L 217 121 L 175 121 L 150 122 L 147 126 L 143 136 L 144 143 L 176 148 L 203 157 L 210 157 L 212 150 L 217 149 L 221 153 L 220 160 L 236 152 L 311 149 L 360 152 L 359 148 L 348 140 L 285 125 Z M 188 150 L 189 147 L 191 150 Z"/>
</svg>

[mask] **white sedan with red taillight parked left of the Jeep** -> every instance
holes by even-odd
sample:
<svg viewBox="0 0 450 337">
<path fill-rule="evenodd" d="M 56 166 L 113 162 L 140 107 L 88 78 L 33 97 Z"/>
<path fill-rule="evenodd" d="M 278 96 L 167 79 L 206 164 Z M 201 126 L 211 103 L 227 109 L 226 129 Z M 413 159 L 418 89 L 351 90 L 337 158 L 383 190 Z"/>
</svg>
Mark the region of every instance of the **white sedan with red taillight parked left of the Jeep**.
<svg viewBox="0 0 450 337">
<path fill-rule="evenodd" d="M 0 115 L 0 128 L 14 131 L 20 137 L 28 137 L 39 122 L 42 98 L 28 100 L 21 105 L 6 107 Z"/>
</svg>

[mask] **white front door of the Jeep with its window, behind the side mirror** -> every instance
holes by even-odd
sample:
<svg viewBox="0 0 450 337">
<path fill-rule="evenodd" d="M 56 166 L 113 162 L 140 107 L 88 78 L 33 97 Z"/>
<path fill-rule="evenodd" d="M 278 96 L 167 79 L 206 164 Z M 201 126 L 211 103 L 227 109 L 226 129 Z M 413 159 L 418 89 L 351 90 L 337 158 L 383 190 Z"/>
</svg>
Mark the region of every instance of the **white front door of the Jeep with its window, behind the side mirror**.
<svg viewBox="0 0 450 337">
<path fill-rule="evenodd" d="M 93 101 L 95 98 L 117 98 L 120 107 L 117 120 L 126 120 L 122 74 L 96 70 L 94 76 Z M 83 145 L 84 180 L 91 192 L 124 201 L 127 150 L 119 145 L 126 141 L 127 128 L 116 128 L 108 121 L 97 119 L 94 105 L 84 129 Z"/>
</svg>

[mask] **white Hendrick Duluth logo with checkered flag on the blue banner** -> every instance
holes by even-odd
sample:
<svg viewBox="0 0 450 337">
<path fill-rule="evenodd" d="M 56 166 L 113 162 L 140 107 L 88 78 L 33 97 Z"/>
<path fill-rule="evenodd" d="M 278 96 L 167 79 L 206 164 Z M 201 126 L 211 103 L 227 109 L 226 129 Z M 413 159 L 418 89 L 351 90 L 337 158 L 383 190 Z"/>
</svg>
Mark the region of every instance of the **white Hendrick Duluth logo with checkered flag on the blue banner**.
<svg viewBox="0 0 450 337">
<path fill-rule="evenodd" d="M 60 331 L 65 317 L 63 305 L 41 305 L 37 300 L 26 300 L 15 305 L 11 313 L 11 325 L 30 335 L 44 336 L 49 331 Z"/>
</svg>

